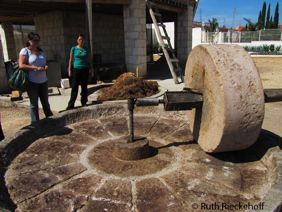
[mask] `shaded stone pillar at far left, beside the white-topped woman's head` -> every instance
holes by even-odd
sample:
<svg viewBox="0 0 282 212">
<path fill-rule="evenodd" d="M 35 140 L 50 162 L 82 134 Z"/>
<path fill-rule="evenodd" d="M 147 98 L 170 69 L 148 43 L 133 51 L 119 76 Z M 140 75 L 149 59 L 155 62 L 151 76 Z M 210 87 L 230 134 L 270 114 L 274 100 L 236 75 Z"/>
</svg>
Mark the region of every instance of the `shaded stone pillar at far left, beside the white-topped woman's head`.
<svg viewBox="0 0 282 212">
<path fill-rule="evenodd" d="M 4 60 L 18 60 L 18 53 L 16 52 L 16 44 L 14 37 L 14 29 L 12 22 L 2 22 L 0 27 L 0 35 L 2 40 L 2 47 L 4 53 Z"/>
</svg>

